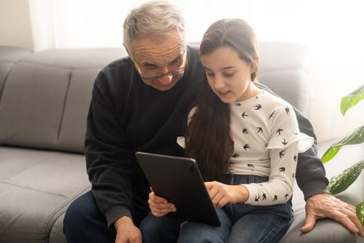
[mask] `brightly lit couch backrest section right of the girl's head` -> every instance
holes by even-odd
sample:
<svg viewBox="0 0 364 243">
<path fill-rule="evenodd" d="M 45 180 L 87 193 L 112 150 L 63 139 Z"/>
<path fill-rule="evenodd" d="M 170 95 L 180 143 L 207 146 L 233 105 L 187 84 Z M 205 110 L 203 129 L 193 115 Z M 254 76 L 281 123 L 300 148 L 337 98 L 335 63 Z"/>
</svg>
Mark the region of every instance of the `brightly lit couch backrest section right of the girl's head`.
<svg viewBox="0 0 364 243">
<path fill-rule="evenodd" d="M 311 51 L 301 44 L 259 42 L 259 82 L 309 117 Z"/>
</svg>

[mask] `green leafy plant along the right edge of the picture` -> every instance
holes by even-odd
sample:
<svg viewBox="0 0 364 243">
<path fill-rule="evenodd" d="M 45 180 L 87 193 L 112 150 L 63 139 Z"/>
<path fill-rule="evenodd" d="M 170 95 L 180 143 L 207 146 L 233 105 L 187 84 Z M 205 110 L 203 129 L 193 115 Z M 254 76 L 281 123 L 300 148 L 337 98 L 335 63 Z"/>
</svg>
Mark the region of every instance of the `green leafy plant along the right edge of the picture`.
<svg viewBox="0 0 364 243">
<path fill-rule="evenodd" d="M 347 110 L 356 106 L 356 104 L 363 99 L 364 85 L 358 87 L 357 90 L 341 99 L 341 114 L 344 116 Z M 325 163 L 331 160 L 334 156 L 336 156 L 338 151 L 340 151 L 342 146 L 349 144 L 361 144 L 362 142 L 364 142 L 364 126 L 356 128 L 351 133 L 345 135 L 345 137 L 341 137 L 340 139 L 336 140 L 336 142 L 331 144 L 329 149 L 327 149 L 327 151 L 322 156 L 322 162 Z M 329 183 L 329 192 L 335 195 L 346 190 L 349 185 L 352 185 L 352 183 L 354 183 L 354 181 L 356 180 L 356 178 L 358 178 L 363 169 L 364 158 L 363 160 L 356 162 L 356 164 L 352 165 L 352 167 L 345 169 L 337 176 L 333 176 Z M 358 218 L 360 219 L 361 224 L 364 227 L 364 201 L 356 205 L 356 215 L 358 215 Z"/>
</svg>

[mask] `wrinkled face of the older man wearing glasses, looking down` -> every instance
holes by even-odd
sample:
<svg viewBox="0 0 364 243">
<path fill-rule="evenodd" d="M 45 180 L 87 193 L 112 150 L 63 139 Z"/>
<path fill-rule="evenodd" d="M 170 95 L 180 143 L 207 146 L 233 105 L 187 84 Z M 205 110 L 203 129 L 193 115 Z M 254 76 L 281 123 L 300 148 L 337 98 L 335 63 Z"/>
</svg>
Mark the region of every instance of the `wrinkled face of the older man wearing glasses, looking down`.
<svg viewBox="0 0 364 243">
<path fill-rule="evenodd" d="M 177 30 L 170 33 L 164 39 L 140 37 L 130 53 L 144 83 L 160 91 L 170 90 L 180 81 L 187 67 L 184 40 Z"/>
</svg>

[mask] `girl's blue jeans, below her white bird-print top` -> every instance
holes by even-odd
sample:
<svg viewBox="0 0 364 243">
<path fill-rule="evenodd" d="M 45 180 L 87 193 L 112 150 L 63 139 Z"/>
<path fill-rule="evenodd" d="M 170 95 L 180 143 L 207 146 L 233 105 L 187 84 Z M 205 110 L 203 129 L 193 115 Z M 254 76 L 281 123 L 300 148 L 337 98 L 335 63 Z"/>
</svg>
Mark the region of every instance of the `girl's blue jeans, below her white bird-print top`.
<svg viewBox="0 0 364 243">
<path fill-rule="evenodd" d="M 230 185 L 262 183 L 267 177 L 228 175 Z M 228 203 L 216 208 L 220 227 L 192 222 L 181 224 L 178 243 L 183 242 L 279 242 L 293 221 L 291 201 L 272 206 Z"/>
</svg>

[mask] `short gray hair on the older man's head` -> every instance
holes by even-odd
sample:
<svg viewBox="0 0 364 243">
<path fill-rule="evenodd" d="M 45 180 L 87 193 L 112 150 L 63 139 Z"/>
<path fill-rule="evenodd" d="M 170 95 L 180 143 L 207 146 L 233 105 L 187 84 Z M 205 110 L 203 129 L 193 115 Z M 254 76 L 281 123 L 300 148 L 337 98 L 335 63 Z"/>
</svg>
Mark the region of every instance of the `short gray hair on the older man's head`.
<svg viewBox="0 0 364 243">
<path fill-rule="evenodd" d="M 168 1 L 149 1 L 130 10 L 123 24 L 124 45 L 133 50 L 138 37 L 155 35 L 166 37 L 168 31 L 177 29 L 186 42 L 184 18 L 180 10 Z"/>
</svg>

